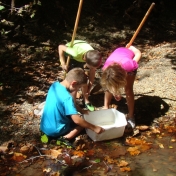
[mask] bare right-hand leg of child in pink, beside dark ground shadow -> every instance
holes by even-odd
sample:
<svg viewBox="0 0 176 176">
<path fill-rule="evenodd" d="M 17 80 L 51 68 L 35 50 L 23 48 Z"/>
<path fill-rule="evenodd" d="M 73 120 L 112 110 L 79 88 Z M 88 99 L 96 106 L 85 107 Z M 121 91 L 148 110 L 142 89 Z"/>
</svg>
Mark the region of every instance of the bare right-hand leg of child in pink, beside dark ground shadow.
<svg viewBox="0 0 176 176">
<path fill-rule="evenodd" d="M 127 84 L 125 86 L 126 100 L 128 106 L 128 117 L 134 117 L 134 92 L 133 92 L 133 84 L 135 80 L 135 75 L 127 75 Z"/>
</svg>

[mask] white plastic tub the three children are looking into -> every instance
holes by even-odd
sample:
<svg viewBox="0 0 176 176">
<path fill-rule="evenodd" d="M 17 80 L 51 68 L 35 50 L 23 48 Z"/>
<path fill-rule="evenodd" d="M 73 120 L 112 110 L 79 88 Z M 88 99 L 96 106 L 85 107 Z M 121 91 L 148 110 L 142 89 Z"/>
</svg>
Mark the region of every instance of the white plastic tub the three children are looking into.
<svg viewBox="0 0 176 176">
<path fill-rule="evenodd" d="M 105 132 L 101 134 L 96 134 L 94 131 L 86 129 L 87 135 L 93 141 L 103 141 L 121 137 L 127 125 L 125 115 L 116 109 L 93 111 L 83 117 L 87 122 L 105 129 Z"/>
</svg>

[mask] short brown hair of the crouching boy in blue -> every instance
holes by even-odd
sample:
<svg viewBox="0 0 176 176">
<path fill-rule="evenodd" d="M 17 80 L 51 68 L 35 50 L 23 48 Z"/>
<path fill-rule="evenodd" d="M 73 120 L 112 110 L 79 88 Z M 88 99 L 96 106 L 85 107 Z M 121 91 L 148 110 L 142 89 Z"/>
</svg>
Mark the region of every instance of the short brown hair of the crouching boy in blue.
<svg viewBox="0 0 176 176">
<path fill-rule="evenodd" d="M 76 81 L 79 85 L 87 83 L 87 75 L 82 68 L 71 69 L 65 78 L 68 82 Z"/>
</svg>

